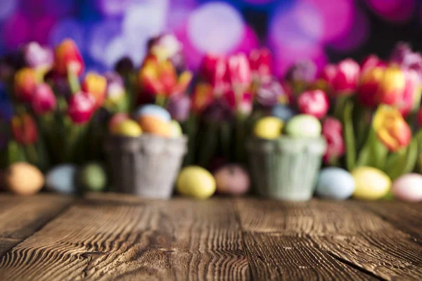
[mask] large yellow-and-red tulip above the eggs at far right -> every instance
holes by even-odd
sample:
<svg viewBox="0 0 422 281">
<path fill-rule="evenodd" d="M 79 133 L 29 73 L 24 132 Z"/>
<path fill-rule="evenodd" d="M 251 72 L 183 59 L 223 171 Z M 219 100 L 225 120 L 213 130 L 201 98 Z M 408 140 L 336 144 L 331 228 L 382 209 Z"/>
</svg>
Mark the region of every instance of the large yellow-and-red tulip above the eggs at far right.
<svg viewBox="0 0 422 281">
<path fill-rule="evenodd" d="M 381 105 L 372 126 L 378 140 L 392 152 L 406 148 L 411 141 L 410 127 L 395 108 Z"/>
</svg>

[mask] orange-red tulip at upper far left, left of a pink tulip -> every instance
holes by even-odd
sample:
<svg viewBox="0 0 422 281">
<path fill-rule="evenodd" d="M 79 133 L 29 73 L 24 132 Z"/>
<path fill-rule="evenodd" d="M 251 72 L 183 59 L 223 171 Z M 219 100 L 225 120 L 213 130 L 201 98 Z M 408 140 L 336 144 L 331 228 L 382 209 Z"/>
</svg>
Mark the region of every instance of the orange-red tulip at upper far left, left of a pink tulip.
<svg viewBox="0 0 422 281">
<path fill-rule="evenodd" d="M 34 70 L 28 67 L 18 70 L 14 81 L 16 98 L 23 102 L 30 102 L 37 84 L 37 74 Z"/>
</svg>

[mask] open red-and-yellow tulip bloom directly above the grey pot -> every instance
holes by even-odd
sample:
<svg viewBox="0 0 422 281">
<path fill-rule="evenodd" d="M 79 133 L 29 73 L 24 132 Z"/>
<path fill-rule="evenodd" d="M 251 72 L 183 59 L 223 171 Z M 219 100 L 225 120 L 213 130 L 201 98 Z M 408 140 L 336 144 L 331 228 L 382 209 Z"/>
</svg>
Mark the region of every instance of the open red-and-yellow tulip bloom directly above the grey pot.
<svg viewBox="0 0 422 281">
<path fill-rule="evenodd" d="M 147 93 L 168 97 L 186 91 L 192 80 L 192 72 L 182 72 L 178 77 L 170 61 L 148 59 L 141 67 L 138 78 Z"/>
</svg>

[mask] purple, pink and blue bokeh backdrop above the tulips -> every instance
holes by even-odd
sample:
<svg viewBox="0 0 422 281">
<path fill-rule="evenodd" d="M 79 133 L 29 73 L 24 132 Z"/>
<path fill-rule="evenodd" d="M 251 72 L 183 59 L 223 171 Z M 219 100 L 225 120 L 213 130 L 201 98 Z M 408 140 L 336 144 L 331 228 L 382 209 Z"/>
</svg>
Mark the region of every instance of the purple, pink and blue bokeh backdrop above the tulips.
<svg viewBox="0 0 422 281">
<path fill-rule="evenodd" d="M 0 0 L 0 53 L 27 41 L 74 39 L 88 70 L 122 56 L 141 63 L 149 37 L 174 32 L 195 68 L 205 52 L 269 46 L 276 74 L 295 60 L 320 66 L 368 53 L 385 57 L 396 41 L 422 51 L 419 0 Z"/>
</svg>

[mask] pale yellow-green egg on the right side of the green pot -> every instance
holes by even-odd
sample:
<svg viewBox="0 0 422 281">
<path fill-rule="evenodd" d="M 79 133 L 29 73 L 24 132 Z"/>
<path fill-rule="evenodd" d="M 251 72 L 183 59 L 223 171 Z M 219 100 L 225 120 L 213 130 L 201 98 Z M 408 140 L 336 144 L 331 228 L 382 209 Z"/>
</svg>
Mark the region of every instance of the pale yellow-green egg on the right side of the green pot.
<svg viewBox="0 0 422 281">
<path fill-rule="evenodd" d="M 296 115 L 286 125 L 286 133 L 293 137 L 321 136 L 321 123 L 312 115 Z"/>
</svg>

